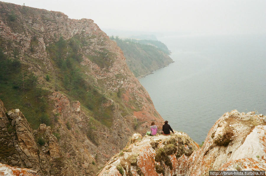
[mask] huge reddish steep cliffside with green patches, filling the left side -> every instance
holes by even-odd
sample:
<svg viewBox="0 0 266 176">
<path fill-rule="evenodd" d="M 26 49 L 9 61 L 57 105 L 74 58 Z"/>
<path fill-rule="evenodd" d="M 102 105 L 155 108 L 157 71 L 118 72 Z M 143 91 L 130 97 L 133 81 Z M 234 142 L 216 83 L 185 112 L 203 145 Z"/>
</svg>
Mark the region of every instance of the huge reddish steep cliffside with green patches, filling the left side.
<svg viewBox="0 0 266 176">
<path fill-rule="evenodd" d="M 0 11 L 0 98 L 26 114 L 3 110 L 2 163 L 40 175 L 95 175 L 135 131 L 163 122 L 93 20 L 4 2 Z"/>
</svg>

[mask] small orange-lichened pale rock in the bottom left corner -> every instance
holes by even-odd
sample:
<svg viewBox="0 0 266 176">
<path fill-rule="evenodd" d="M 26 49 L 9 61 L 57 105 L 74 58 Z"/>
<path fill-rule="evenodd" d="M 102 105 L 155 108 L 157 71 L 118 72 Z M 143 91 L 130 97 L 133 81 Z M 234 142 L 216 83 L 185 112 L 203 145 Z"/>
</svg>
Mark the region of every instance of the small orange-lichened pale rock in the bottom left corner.
<svg viewBox="0 0 266 176">
<path fill-rule="evenodd" d="M 7 164 L 0 163 L 0 175 L 1 176 L 37 176 L 37 172 L 30 169 L 21 169 L 11 167 Z"/>
</svg>

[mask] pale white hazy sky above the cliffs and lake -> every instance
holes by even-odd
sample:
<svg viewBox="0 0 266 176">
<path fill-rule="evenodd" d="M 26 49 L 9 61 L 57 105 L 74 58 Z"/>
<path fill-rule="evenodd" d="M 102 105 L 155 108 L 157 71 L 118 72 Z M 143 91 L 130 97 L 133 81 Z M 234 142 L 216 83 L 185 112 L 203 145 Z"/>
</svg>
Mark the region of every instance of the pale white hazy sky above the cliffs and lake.
<svg viewBox="0 0 266 176">
<path fill-rule="evenodd" d="M 4 0 L 89 18 L 105 29 L 266 34 L 266 0 Z"/>
</svg>

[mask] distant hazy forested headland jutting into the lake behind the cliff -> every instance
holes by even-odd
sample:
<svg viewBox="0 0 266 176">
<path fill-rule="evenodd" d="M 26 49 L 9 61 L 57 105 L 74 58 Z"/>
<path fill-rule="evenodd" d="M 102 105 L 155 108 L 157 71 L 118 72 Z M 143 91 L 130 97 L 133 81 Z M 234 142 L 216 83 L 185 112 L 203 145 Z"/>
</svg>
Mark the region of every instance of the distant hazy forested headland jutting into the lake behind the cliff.
<svg viewBox="0 0 266 176">
<path fill-rule="evenodd" d="M 168 56 L 171 52 L 167 46 L 158 40 L 135 40 L 120 39 L 118 36 L 111 40 L 116 41 L 126 57 L 129 69 L 136 77 L 151 74 L 154 70 L 160 69 L 172 63 Z"/>
</svg>

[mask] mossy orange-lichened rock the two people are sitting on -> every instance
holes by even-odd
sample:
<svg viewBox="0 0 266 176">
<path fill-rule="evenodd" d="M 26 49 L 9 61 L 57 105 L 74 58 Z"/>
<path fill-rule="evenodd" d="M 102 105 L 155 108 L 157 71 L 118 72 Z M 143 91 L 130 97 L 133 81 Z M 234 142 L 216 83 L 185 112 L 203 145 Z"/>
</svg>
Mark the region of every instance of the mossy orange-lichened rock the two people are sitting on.
<svg viewBox="0 0 266 176">
<path fill-rule="evenodd" d="M 138 140 L 139 139 L 139 140 Z M 175 132 L 169 136 L 134 134 L 129 146 L 116 154 L 98 176 L 121 175 L 175 175 L 187 170 L 189 155 L 186 150 L 198 149 L 198 145 L 186 134 Z"/>
</svg>

